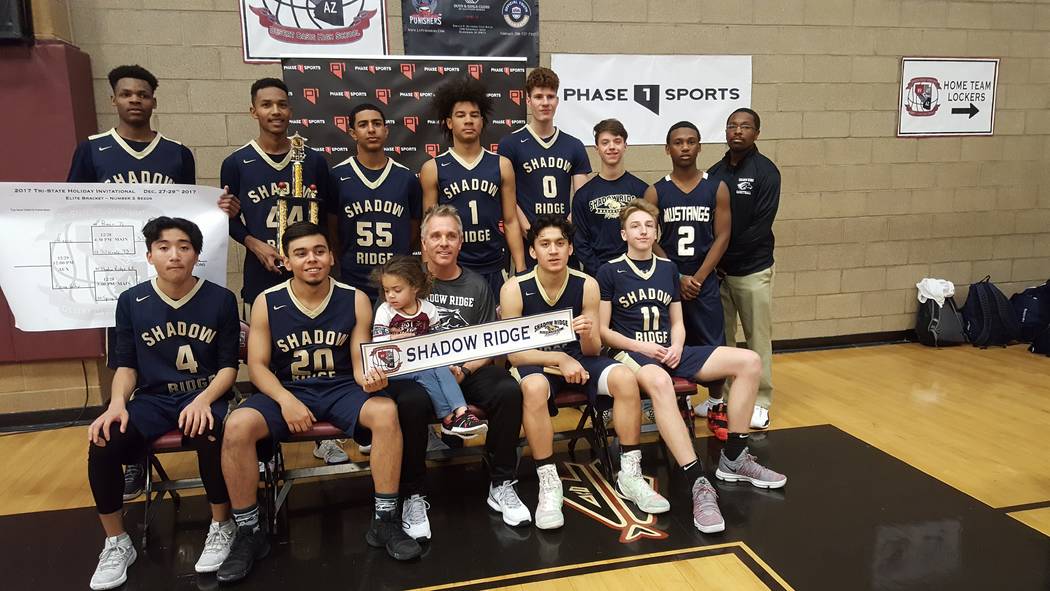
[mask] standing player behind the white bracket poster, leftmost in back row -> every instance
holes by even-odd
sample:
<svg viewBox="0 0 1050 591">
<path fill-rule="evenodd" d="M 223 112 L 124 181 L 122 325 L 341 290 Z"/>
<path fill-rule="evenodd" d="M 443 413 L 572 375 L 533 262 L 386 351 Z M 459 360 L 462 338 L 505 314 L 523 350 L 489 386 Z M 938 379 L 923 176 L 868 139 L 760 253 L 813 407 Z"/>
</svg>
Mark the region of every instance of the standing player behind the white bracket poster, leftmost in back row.
<svg viewBox="0 0 1050 591">
<path fill-rule="evenodd" d="M 117 127 L 91 135 L 77 146 L 66 182 L 195 185 L 193 152 L 150 126 L 156 108 L 156 77 L 142 66 L 125 65 L 109 70 L 108 78 Z M 240 205 L 227 191 L 219 197 L 218 207 L 232 217 L 237 215 Z M 107 331 L 107 341 L 113 340 L 112 330 Z M 108 365 L 116 370 L 112 355 L 109 357 Z M 145 466 L 130 464 L 124 478 L 125 501 L 142 494 L 146 485 Z"/>
</svg>

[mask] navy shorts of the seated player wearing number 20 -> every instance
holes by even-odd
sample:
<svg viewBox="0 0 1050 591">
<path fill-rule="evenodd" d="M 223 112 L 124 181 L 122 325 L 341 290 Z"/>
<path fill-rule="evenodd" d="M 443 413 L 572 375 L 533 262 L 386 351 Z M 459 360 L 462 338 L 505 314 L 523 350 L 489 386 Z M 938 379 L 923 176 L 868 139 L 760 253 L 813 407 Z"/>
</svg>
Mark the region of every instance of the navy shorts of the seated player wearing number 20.
<svg viewBox="0 0 1050 591">
<path fill-rule="evenodd" d="M 352 377 L 307 379 L 282 384 L 292 395 L 306 404 L 318 421 L 328 421 L 362 445 L 372 441 L 369 429 L 357 426 L 361 407 L 372 396 L 357 385 Z M 270 437 L 275 441 L 288 441 L 292 431 L 280 414 L 280 405 L 265 394 L 253 394 L 239 408 L 253 408 L 262 415 Z"/>
</svg>

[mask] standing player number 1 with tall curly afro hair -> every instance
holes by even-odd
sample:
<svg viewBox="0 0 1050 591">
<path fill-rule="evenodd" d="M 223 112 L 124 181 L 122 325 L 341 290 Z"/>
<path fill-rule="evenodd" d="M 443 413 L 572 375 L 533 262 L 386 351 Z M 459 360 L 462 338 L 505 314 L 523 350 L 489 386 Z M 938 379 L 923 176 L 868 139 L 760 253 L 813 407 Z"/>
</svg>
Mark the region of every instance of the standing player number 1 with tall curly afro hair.
<svg viewBox="0 0 1050 591">
<path fill-rule="evenodd" d="M 522 233 L 510 161 L 481 146 L 481 132 L 491 112 L 485 87 L 470 78 L 449 80 L 434 97 L 435 113 L 445 122 L 453 147 L 427 161 L 419 171 L 423 210 L 450 205 L 463 220 L 459 262 L 480 274 L 492 294 L 503 286 L 506 251 L 517 272 L 525 270 Z M 501 235 L 501 223 L 503 226 Z"/>
</svg>

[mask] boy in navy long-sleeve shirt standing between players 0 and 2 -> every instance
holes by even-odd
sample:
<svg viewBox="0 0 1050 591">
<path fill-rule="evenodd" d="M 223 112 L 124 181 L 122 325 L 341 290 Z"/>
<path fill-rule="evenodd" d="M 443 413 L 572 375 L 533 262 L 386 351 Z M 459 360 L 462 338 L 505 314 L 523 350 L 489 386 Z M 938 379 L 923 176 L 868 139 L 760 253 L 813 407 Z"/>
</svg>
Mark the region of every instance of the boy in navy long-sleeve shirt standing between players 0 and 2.
<svg viewBox="0 0 1050 591">
<path fill-rule="evenodd" d="M 584 273 L 597 276 L 606 262 L 624 254 L 627 246 L 620 237 L 620 210 L 646 194 L 649 185 L 624 168 L 627 129 L 615 119 L 594 126 L 594 146 L 602 169 L 576 192 L 572 199 L 572 223 L 576 226 L 574 247 Z"/>
</svg>

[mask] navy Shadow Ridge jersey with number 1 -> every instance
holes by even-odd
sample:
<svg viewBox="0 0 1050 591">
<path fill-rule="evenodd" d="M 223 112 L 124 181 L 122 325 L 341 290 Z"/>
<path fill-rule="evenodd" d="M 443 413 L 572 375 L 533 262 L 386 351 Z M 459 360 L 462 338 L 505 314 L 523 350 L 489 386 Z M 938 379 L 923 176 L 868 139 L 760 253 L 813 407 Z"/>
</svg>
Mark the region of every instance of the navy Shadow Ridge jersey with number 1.
<svg viewBox="0 0 1050 591">
<path fill-rule="evenodd" d="M 500 232 L 500 156 L 482 150 L 478 160 L 467 163 L 448 150 L 434 160 L 438 166 L 438 204 L 455 207 L 463 220 L 460 265 L 481 274 L 502 269 L 506 239 Z"/>
</svg>

